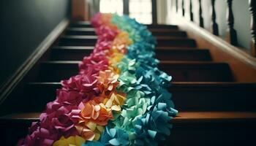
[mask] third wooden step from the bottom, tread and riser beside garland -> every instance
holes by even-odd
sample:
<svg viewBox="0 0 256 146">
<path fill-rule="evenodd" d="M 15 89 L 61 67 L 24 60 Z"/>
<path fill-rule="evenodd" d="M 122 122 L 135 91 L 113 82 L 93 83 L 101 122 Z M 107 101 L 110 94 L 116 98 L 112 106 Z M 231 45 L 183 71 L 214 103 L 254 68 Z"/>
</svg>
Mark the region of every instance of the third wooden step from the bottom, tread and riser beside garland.
<svg viewBox="0 0 256 146">
<path fill-rule="evenodd" d="M 44 61 L 38 81 L 59 82 L 78 74 L 80 61 Z M 231 82 L 228 64 L 208 61 L 160 61 L 159 69 L 173 76 L 175 82 Z"/>
</svg>

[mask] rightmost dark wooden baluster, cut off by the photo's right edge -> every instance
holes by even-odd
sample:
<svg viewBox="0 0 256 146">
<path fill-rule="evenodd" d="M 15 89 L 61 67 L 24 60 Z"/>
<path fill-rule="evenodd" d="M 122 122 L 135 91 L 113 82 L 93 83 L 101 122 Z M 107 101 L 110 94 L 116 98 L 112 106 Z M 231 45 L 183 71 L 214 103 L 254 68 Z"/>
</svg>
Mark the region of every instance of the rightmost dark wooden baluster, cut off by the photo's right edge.
<svg viewBox="0 0 256 146">
<path fill-rule="evenodd" d="M 249 0 L 249 11 L 251 12 L 251 34 L 252 34 L 252 41 L 251 41 L 251 53 L 253 56 L 256 57 L 256 9 L 255 9 L 255 0 Z"/>
</svg>

